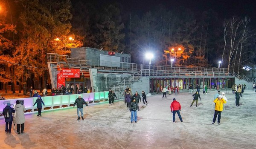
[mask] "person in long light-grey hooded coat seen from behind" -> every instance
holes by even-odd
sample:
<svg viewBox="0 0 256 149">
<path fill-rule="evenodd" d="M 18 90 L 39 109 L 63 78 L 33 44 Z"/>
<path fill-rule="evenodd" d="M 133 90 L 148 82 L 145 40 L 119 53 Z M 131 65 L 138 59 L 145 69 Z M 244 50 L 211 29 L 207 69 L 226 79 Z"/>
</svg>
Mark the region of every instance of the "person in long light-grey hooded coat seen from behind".
<svg viewBox="0 0 256 149">
<path fill-rule="evenodd" d="M 19 100 L 16 100 L 16 106 L 15 106 L 16 114 L 16 123 L 17 123 L 17 134 L 23 134 L 24 133 L 24 127 L 25 127 L 25 115 L 24 112 L 26 112 L 26 108 L 24 105 L 20 104 Z"/>
</svg>

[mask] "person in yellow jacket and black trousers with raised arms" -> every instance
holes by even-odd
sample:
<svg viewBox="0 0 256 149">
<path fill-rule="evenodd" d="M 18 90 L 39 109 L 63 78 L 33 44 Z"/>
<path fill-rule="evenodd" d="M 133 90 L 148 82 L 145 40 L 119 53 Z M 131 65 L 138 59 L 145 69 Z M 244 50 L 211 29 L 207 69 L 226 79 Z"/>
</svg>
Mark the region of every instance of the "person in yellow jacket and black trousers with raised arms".
<svg viewBox="0 0 256 149">
<path fill-rule="evenodd" d="M 214 116 L 213 116 L 212 125 L 214 125 L 217 115 L 218 115 L 218 125 L 220 125 L 223 104 L 227 103 L 227 101 L 225 99 L 223 99 L 223 97 L 221 95 L 219 95 L 218 98 L 216 98 L 213 102 L 215 103 L 215 112 L 214 112 Z"/>
</svg>

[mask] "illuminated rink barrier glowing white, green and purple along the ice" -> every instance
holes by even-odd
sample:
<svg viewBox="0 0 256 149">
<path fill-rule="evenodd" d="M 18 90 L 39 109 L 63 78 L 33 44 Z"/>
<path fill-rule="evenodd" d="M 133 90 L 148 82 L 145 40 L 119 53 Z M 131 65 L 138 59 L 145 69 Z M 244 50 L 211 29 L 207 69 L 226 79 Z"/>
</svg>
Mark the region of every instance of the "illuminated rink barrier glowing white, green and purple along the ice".
<svg viewBox="0 0 256 149">
<path fill-rule="evenodd" d="M 50 108 L 53 109 L 54 107 L 62 108 L 62 106 L 70 106 L 71 104 L 74 104 L 76 98 L 81 95 L 81 97 L 88 103 L 94 103 L 95 101 L 100 100 L 106 100 L 108 99 L 108 92 L 93 92 L 93 93 L 83 93 L 83 94 L 72 94 L 72 95 L 58 95 L 58 96 L 46 96 L 42 97 L 42 100 L 44 101 L 45 107 L 42 105 L 42 110 L 44 108 Z M 24 106 L 26 110 L 32 110 L 34 112 L 34 109 L 37 109 L 37 105 L 33 106 L 35 103 L 37 97 L 29 97 L 29 98 L 16 98 L 16 99 L 6 99 L 6 100 L 0 100 L 0 113 L 3 113 L 3 108 L 6 107 L 7 103 L 11 103 L 11 105 L 15 104 L 16 100 L 24 100 Z"/>
</svg>

